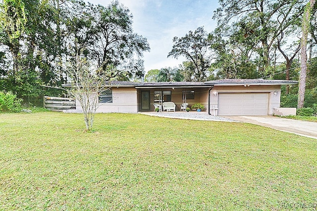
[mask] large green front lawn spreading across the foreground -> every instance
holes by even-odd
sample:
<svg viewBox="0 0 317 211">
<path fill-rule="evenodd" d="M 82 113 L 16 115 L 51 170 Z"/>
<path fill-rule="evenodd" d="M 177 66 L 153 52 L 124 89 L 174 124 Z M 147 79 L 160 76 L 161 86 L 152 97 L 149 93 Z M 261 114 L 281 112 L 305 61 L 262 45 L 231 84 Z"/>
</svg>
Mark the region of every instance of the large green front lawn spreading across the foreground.
<svg viewBox="0 0 317 211">
<path fill-rule="evenodd" d="M 313 210 L 317 203 L 314 139 L 142 114 L 96 114 L 95 132 L 83 129 L 82 114 L 1 114 L 0 210 Z"/>
</svg>

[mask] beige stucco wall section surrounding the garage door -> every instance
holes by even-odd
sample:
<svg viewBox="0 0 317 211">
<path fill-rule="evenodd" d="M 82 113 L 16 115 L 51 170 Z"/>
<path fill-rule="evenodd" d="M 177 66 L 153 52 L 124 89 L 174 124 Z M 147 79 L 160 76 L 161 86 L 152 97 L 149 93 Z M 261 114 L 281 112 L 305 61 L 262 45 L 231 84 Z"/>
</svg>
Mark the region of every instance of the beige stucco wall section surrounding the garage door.
<svg viewBox="0 0 317 211">
<path fill-rule="evenodd" d="M 277 92 L 275 95 L 274 92 Z M 214 85 L 211 90 L 211 113 L 213 113 L 212 106 L 218 107 L 218 94 L 219 93 L 268 93 L 268 115 L 273 114 L 273 108 L 277 108 L 280 106 L 280 98 L 281 98 L 281 86 L 280 85 L 270 85 L 270 86 L 262 86 L 262 85 L 250 85 L 250 86 L 220 86 Z M 208 101 L 208 100 L 207 100 Z M 217 115 L 217 110 L 216 110 Z"/>
</svg>

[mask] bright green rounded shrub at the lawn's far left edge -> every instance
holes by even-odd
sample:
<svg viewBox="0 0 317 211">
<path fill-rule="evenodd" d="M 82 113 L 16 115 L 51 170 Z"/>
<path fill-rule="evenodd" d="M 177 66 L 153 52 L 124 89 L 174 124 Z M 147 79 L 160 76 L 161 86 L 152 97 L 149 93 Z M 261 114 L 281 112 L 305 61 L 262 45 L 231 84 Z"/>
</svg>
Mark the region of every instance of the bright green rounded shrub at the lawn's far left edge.
<svg viewBox="0 0 317 211">
<path fill-rule="evenodd" d="M 0 92 L 0 111 L 20 111 L 21 103 L 22 99 L 18 99 L 16 95 L 11 92 Z"/>
</svg>

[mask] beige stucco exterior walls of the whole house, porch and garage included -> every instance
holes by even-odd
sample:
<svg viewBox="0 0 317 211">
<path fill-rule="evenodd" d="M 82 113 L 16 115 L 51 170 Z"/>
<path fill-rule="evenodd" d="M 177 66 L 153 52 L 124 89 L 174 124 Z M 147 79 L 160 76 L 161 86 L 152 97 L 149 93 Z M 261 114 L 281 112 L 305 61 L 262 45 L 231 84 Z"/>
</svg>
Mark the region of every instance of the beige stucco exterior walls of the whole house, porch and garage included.
<svg viewBox="0 0 317 211">
<path fill-rule="evenodd" d="M 100 104 L 97 112 L 109 113 L 136 113 L 141 111 L 141 91 L 150 91 L 150 110 L 154 110 L 154 92 L 155 91 L 171 91 L 171 101 L 175 103 L 176 110 L 180 110 L 180 104 L 183 103 L 182 91 L 195 91 L 195 99 L 187 100 L 189 107 L 196 103 L 201 103 L 208 111 L 208 90 L 209 88 L 156 88 L 156 89 L 136 89 L 135 87 L 113 87 L 112 88 L 112 103 Z M 268 93 L 268 114 L 273 114 L 273 108 L 280 107 L 280 85 L 260 86 L 250 85 L 249 87 L 240 86 L 225 86 L 214 85 L 210 94 L 210 112 L 213 114 L 212 106 L 218 107 L 218 93 Z M 275 95 L 274 92 L 277 92 Z M 79 102 L 76 102 L 76 110 L 72 112 L 82 112 Z M 217 110 L 216 110 L 217 115 Z"/>
</svg>

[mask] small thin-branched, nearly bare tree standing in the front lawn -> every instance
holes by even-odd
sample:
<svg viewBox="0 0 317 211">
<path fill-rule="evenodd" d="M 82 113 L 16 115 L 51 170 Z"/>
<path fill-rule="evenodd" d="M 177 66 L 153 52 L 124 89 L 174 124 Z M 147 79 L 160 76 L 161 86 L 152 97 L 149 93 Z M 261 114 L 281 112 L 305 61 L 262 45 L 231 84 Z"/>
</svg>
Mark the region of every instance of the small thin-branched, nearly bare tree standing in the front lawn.
<svg viewBox="0 0 317 211">
<path fill-rule="evenodd" d="M 109 82 L 91 69 L 87 59 L 77 51 L 72 59 L 66 62 L 66 74 L 70 78 L 71 88 L 68 95 L 79 101 L 87 130 L 93 127 L 94 117 L 99 107 L 99 96 L 111 88 Z"/>
</svg>

